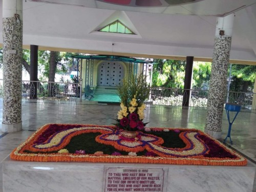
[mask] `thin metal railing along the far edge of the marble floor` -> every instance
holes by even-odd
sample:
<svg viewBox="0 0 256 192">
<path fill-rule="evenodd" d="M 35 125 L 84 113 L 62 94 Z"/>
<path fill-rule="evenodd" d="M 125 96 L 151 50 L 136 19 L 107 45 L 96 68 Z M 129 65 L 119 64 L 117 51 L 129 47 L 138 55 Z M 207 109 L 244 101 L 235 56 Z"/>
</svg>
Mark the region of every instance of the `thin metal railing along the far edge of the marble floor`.
<svg viewBox="0 0 256 192">
<path fill-rule="evenodd" d="M 81 84 L 71 82 L 22 81 L 22 97 L 25 99 L 37 98 L 39 100 L 81 100 Z M 35 92 L 37 88 L 37 93 Z M 190 100 L 188 98 L 190 92 Z M 36 96 L 35 96 L 36 93 Z M 3 79 L 0 79 L 0 97 L 3 97 Z M 228 98 L 227 98 L 228 97 Z M 225 102 L 237 103 L 242 109 L 251 109 L 253 97 L 256 93 L 227 92 Z M 189 106 L 206 107 L 208 90 L 184 90 L 175 88 L 151 88 L 152 104 L 182 106 L 189 100 Z"/>
</svg>

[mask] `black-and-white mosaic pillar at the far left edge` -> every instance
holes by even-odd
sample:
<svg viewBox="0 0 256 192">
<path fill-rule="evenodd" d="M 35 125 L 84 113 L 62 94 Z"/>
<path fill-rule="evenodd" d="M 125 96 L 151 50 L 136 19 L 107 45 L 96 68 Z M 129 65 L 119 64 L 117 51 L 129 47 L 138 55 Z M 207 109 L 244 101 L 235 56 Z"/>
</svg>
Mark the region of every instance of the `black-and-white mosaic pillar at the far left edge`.
<svg viewBox="0 0 256 192">
<path fill-rule="evenodd" d="M 23 0 L 3 0 L 2 132 L 22 130 Z"/>
</svg>

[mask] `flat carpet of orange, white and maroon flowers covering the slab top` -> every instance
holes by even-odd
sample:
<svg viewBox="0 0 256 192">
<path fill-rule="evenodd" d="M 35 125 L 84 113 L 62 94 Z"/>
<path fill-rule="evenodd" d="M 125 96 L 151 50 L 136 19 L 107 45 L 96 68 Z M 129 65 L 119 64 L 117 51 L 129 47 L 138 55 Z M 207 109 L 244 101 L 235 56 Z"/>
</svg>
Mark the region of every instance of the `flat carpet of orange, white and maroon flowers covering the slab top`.
<svg viewBox="0 0 256 192">
<path fill-rule="evenodd" d="M 78 161 L 246 165 L 247 160 L 196 129 L 147 127 L 134 140 L 111 125 L 47 124 L 20 144 L 10 157 L 20 161 Z M 146 129 L 145 129 L 146 130 Z M 172 138 L 172 139 L 169 139 Z"/>
</svg>

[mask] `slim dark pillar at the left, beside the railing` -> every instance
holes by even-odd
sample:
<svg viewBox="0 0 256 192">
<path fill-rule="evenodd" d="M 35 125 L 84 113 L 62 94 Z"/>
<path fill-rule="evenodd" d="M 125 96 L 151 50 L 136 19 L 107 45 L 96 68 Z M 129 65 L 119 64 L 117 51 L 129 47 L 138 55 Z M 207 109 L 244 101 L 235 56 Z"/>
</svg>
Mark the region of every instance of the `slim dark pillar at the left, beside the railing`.
<svg viewBox="0 0 256 192">
<path fill-rule="evenodd" d="M 37 81 L 38 46 L 30 45 L 30 80 Z M 30 99 L 37 99 L 37 82 L 30 82 Z"/>
</svg>

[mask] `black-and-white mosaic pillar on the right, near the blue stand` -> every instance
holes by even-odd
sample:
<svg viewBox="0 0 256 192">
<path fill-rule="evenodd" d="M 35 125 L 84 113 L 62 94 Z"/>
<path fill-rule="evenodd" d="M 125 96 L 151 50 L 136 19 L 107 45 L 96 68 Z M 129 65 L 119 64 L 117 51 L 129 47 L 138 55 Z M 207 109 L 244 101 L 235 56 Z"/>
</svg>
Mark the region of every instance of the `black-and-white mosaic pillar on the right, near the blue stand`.
<svg viewBox="0 0 256 192">
<path fill-rule="evenodd" d="M 234 14 L 219 17 L 207 101 L 205 133 L 221 138 L 221 124 L 227 92 L 227 72 Z"/>
</svg>

